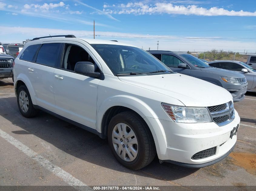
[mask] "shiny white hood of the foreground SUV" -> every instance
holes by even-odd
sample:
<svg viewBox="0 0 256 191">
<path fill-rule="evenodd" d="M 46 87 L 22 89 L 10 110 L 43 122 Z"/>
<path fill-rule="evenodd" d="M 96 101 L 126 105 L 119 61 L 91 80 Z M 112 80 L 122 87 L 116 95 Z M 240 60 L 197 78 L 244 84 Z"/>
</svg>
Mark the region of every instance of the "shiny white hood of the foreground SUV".
<svg viewBox="0 0 256 191">
<path fill-rule="evenodd" d="M 209 107 L 232 100 L 231 94 L 224 88 L 178 73 L 118 78 L 123 82 L 173 97 L 190 107 Z"/>
</svg>

